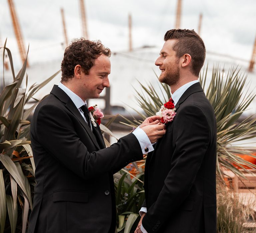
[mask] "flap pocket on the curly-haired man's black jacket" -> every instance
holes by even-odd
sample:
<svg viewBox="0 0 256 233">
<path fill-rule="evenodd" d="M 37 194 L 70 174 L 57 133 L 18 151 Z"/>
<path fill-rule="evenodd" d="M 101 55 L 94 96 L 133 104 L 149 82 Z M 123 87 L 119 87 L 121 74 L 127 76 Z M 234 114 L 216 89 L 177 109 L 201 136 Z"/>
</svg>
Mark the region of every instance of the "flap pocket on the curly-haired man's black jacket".
<svg viewBox="0 0 256 233">
<path fill-rule="evenodd" d="M 74 191 L 74 190 L 57 190 L 53 192 L 53 202 L 57 201 L 70 201 L 70 202 L 88 202 L 87 191 Z"/>
</svg>

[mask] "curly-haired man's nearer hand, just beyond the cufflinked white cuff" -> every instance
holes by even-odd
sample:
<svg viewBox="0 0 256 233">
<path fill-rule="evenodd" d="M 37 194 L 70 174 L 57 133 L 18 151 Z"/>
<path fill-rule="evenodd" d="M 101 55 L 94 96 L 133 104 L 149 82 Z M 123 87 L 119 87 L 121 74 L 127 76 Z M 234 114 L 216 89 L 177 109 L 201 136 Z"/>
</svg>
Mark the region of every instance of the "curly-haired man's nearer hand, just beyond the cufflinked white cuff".
<svg viewBox="0 0 256 233">
<path fill-rule="evenodd" d="M 147 134 L 151 143 L 155 143 L 157 139 L 161 138 L 165 132 L 165 125 L 162 123 L 157 124 L 147 124 L 146 126 L 141 127 L 142 130 Z"/>
</svg>

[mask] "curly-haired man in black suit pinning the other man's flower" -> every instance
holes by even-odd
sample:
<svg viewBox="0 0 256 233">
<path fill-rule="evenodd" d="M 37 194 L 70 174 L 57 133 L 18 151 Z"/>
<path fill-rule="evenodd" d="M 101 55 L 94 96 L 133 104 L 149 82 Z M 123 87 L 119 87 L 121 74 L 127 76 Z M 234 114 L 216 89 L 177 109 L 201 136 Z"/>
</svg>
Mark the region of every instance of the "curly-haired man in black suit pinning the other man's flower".
<svg viewBox="0 0 256 233">
<path fill-rule="evenodd" d="M 86 100 L 109 88 L 110 54 L 100 41 L 71 43 L 61 83 L 35 110 L 30 130 L 37 183 L 29 233 L 114 233 L 113 174 L 142 159 L 165 133 L 153 116 L 105 148 Z"/>
</svg>

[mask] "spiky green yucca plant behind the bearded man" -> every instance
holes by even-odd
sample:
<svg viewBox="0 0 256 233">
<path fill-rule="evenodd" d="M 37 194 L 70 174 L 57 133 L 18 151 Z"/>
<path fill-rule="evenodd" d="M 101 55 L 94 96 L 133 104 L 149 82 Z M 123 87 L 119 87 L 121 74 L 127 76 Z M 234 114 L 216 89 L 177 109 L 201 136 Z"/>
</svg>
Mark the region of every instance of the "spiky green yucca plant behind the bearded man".
<svg viewBox="0 0 256 233">
<path fill-rule="evenodd" d="M 206 97 L 212 104 L 217 121 L 217 173 L 223 177 L 225 170 L 231 170 L 238 176 L 244 177 L 237 165 L 247 171 L 256 170 L 256 165 L 252 164 L 239 156 L 239 154 L 248 154 L 253 157 L 252 150 L 256 148 L 247 148 L 245 146 L 235 146 L 235 142 L 243 142 L 246 139 L 256 137 L 256 118 L 249 116 L 238 122 L 239 117 L 246 111 L 252 100 L 254 93 L 248 93 L 245 90 L 247 76 L 241 74 L 237 68 L 231 67 L 226 77 L 223 76 L 223 69 L 219 66 L 214 67 L 211 81 L 206 87 L 206 77 L 208 65 L 200 74 L 200 83 L 204 89 Z M 155 115 L 163 103 L 167 102 L 171 96 L 170 88 L 166 84 L 159 83 L 157 90 L 152 84 L 147 86 L 141 84 L 142 92 L 137 93 L 136 101 L 144 114 L 136 111 L 144 120 L 148 116 Z M 125 118 L 125 117 L 124 117 Z M 137 127 L 142 120 L 128 120 L 126 125 Z M 241 166 L 242 165 L 242 166 Z M 246 165 L 250 169 L 245 168 Z"/>
</svg>

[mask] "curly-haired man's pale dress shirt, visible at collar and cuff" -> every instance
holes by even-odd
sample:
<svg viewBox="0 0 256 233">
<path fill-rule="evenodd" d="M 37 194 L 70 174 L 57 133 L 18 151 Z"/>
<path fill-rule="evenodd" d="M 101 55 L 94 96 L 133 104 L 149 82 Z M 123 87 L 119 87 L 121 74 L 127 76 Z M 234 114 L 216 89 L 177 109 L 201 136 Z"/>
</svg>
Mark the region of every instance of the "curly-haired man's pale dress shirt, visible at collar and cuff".
<svg viewBox="0 0 256 233">
<path fill-rule="evenodd" d="M 84 120 L 85 116 L 83 111 L 80 109 L 83 105 L 86 105 L 86 101 L 84 102 L 78 95 L 76 95 L 74 92 L 72 92 L 70 89 L 68 89 L 65 85 L 63 85 L 62 83 L 59 83 L 58 87 L 63 90 L 68 96 L 69 98 L 73 101 L 73 103 L 75 104 L 75 106 L 77 107 L 78 111 L 80 112 L 80 114 L 83 116 Z M 87 121 L 86 121 L 87 122 Z M 91 124 L 91 122 L 90 122 Z M 91 126 L 92 128 L 92 126 Z M 140 147 L 142 150 L 142 153 L 149 153 L 151 151 L 154 150 L 154 147 L 152 146 L 147 134 L 144 132 L 143 129 L 141 129 L 140 127 L 136 128 L 133 132 L 132 132 L 135 137 L 137 138 L 137 140 L 140 143 Z M 145 151 L 145 148 L 148 148 L 147 151 Z"/>
</svg>

